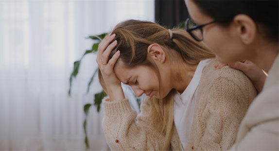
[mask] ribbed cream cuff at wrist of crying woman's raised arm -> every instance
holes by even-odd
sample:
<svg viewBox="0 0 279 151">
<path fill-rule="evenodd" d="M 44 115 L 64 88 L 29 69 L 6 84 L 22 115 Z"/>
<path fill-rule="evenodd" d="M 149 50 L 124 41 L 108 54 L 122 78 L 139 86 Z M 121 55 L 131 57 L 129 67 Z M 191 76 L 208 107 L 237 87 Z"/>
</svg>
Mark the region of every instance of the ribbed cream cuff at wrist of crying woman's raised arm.
<svg viewBox="0 0 279 151">
<path fill-rule="evenodd" d="M 133 111 L 128 99 L 123 99 L 121 101 L 103 101 L 103 102 L 105 106 L 105 116 L 120 115 L 124 113 L 131 113 Z"/>
</svg>

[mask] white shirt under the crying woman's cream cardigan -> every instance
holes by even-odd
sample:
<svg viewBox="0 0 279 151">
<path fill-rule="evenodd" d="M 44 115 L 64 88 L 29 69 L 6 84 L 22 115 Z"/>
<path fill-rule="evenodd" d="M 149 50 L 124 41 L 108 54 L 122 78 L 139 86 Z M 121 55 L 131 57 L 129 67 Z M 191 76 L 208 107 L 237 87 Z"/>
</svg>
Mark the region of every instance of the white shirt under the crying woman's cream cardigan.
<svg viewBox="0 0 279 151">
<path fill-rule="evenodd" d="M 197 87 L 202 76 L 203 68 L 209 64 L 210 60 L 200 61 L 190 84 L 181 95 L 177 93 L 174 96 L 174 124 L 183 148 L 186 147 L 191 130 Z"/>
</svg>

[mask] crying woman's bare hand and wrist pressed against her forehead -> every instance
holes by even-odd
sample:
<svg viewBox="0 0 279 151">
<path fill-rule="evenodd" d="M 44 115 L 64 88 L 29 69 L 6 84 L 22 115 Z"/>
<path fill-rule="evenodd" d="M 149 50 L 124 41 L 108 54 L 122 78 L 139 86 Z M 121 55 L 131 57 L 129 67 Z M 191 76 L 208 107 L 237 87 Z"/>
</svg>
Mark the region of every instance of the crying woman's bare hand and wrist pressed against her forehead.
<svg viewBox="0 0 279 151">
<path fill-rule="evenodd" d="M 114 73 L 114 65 L 120 56 L 120 51 L 118 50 L 113 57 L 108 60 L 108 57 L 114 47 L 117 45 L 117 41 L 114 40 L 113 43 L 109 44 L 115 38 L 115 34 L 107 35 L 99 44 L 96 62 L 101 71 L 105 86 L 107 89 L 110 101 L 122 100 L 124 99 L 124 93 L 121 87 L 121 81 L 116 77 Z"/>
</svg>

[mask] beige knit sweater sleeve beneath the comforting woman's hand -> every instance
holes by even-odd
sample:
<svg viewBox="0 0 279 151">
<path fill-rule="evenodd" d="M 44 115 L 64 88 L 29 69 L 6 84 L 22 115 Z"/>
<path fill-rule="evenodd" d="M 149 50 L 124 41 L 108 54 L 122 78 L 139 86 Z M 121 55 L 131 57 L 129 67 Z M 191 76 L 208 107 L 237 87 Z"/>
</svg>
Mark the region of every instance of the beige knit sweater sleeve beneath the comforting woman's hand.
<svg viewBox="0 0 279 151">
<path fill-rule="evenodd" d="M 209 84 L 209 83 L 207 83 Z M 224 69 L 219 77 L 205 86 L 192 125 L 187 150 L 228 150 L 236 139 L 238 127 L 249 104 L 256 96 L 256 89 L 240 71 Z M 207 91 L 207 92 L 205 92 Z M 193 133 L 192 133 L 193 130 Z"/>
</svg>

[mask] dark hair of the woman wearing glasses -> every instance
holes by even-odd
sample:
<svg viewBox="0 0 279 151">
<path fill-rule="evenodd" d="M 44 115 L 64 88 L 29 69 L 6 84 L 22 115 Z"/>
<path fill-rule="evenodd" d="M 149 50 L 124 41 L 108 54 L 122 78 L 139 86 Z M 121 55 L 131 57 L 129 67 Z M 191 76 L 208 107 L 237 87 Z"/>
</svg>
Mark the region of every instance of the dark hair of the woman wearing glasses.
<svg viewBox="0 0 279 151">
<path fill-rule="evenodd" d="M 262 24 L 263 36 L 278 42 L 279 0 L 194 0 L 203 13 L 227 26 L 234 16 L 245 14 Z"/>
</svg>

